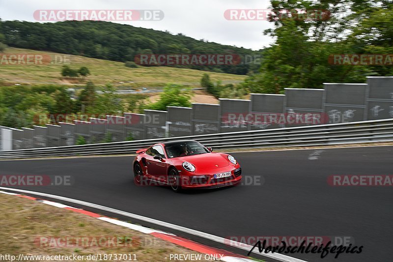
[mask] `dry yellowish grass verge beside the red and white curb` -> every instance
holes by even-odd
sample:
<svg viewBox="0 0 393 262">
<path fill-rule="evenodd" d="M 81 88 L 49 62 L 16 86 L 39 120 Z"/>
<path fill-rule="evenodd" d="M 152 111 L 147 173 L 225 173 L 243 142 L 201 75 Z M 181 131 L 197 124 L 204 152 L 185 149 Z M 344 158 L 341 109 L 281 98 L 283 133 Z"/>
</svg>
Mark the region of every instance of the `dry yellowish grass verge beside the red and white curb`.
<svg viewBox="0 0 393 262">
<path fill-rule="evenodd" d="M 131 261 L 135 254 L 138 261 L 151 262 L 169 261 L 170 254 L 198 254 L 152 235 L 16 196 L 0 194 L 0 211 L 0 254 L 9 254 L 16 258 L 19 254 L 41 256 L 41 260 L 30 257 L 23 261 L 43 261 L 42 256 L 58 254 L 65 256 L 99 254 L 102 258 L 105 254 L 108 258 L 112 255 L 112 259 L 107 261 L 116 261 L 115 254 L 128 254 L 132 256 L 131 259 L 127 257 L 121 261 Z M 85 239 L 84 242 L 77 242 L 82 237 Z M 119 241 L 93 242 L 94 239 L 113 238 Z M 46 239 L 51 240 L 46 241 Z M 64 239 L 70 241 L 65 242 Z M 120 241 L 124 239 L 130 241 Z M 84 259 L 84 261 L 94 260 Z"/>
</svg>

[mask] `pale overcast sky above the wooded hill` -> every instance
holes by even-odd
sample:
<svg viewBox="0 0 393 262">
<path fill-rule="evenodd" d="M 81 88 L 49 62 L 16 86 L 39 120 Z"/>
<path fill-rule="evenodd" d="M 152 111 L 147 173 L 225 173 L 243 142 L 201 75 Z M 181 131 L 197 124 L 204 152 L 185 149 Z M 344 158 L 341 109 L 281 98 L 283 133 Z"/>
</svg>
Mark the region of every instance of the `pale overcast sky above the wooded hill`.
<svg viewBox="0 0 393 262">
<path fill-rule="evenodd" d="M 0 0 L 0 18 L 36 22 L 33 12 L 41 9 L 158 9 L 165 14 L 162 21 L 118 23 L 258 50 L 272 43 L 271 37 L 263 35 L 272 25 L 267 21 L 229 21 L 224 12 L 267 9 L 269 5 L 269 0 Z"/>
</svg>

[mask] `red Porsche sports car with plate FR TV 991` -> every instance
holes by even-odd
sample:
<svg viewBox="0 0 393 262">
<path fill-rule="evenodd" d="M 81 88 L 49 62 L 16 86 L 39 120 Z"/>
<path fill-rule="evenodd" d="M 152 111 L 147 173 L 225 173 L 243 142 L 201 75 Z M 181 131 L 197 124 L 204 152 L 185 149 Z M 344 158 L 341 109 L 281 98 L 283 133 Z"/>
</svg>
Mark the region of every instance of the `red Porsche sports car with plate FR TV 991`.
<svg viewBox="0 0 393 262">
<path fill-rule="evenodd" d="M 133 168 L 136 184 L 169 185 L 173 191 L 186 188 L 216 188 L 236 185 L 242 169 L 228 154 L 184 140 L 158 143 L 137 151 Z"/>
</svg>

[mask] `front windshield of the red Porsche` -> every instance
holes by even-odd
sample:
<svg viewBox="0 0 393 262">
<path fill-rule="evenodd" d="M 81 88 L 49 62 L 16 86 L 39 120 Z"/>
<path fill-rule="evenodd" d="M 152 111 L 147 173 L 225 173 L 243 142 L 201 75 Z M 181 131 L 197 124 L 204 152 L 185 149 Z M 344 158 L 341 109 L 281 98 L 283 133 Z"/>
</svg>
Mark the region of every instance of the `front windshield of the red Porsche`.
<svg viewBox="0 0 393 262">
<path fill-rule="evenodd" d="M 182 141 L 165 146 L 168 158 L 210 153 L 210 151 L 196 141 Z"/>
</svg>

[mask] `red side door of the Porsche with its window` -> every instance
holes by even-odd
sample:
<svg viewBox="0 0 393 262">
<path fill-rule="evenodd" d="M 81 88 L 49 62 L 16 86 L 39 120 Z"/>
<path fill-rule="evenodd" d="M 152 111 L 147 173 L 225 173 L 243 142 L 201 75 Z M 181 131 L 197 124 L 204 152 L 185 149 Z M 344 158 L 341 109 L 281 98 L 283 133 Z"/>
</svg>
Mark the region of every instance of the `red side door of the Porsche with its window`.
<svg viewBox="0 0 393 262">
<path fill-rule="evenodd" d="M 154 176 L 159 181 L 166 181 L 167 177 L 167 164 L 165 162 L 165 154 L 162 146 L 157 145 L 151 147 L 146 151 L 148 157 L 146 157 L 147 174 Z M 163 160 L 154 159 L 155 155 L 160 155 Z"/>
</svg>

